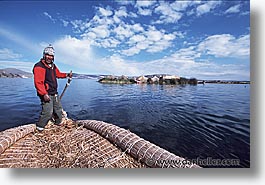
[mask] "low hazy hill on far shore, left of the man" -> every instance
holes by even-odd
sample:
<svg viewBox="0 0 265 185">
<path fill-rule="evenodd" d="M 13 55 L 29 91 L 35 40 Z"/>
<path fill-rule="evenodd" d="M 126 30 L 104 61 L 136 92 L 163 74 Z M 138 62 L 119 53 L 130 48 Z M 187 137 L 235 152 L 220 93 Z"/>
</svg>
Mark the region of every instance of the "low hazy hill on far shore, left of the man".
<svg viewBox="0 0 265 185">
<path fill-rule="evenodd" d="M 32 73 L 28 73 L 16 68 L 0 69 L 0 78 L 31 78 Z"/>
</svg>

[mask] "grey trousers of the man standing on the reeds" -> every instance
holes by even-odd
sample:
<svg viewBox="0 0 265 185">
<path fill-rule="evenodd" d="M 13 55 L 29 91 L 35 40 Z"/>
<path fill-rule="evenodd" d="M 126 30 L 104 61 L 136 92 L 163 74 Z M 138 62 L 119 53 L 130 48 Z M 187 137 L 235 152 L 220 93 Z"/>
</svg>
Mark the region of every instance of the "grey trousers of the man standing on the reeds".
<svg viewBox="0 0 265 185">
<path fill-rule="evenodd" d="M 55 118 L 55 124 L 60 124 L 62 121 L 62 104 L 59 96 L 57 94 L 49 96 L 51 101 L 44 102 L 41 100 L 42 111 L 37 127 L 44 128 L 53 115 Z"/>
</svg>

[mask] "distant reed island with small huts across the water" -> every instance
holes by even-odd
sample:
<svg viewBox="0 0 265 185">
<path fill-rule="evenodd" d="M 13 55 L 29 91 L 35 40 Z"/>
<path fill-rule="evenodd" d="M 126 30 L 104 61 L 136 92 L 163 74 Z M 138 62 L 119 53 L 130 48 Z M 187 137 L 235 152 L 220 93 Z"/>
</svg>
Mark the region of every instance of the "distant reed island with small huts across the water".
<svg viewBox="0 0 265 185">
<path fill-rule="evenodd" d="M 197 85 L 196 78 L 187 79 L 176 75 L 142 75 L 139 77 L 104 76 L 98 80 L 100 83 L 111 84 L 160 84 L 160 85 Z"/>
</svg>

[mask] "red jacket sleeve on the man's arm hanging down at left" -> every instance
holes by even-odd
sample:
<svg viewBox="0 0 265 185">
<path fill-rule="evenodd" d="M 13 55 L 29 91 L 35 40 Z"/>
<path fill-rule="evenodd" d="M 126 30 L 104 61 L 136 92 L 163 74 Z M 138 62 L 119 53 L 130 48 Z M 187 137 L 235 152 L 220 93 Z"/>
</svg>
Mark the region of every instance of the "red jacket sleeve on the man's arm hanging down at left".
<svg viewBox="0 0 265 185">
<path fill-rule="evenodd" d="M 46 70 L 42 67 L 34 67 L 33 73 L 34 73 L 34 85 L 35 88 L 37 89 L 38 94 L 39 95 L 48 94 L 44 84 Z"/>
</svg>

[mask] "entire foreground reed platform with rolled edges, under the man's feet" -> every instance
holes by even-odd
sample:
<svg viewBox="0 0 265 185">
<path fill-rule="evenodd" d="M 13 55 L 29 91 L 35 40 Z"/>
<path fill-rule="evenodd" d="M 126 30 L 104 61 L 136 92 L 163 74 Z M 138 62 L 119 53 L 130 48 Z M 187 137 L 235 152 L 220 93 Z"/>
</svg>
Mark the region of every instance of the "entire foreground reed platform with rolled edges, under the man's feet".
<svg viewBox="0 0 265 185">
<path fill-rule="evenodd" d="M 129 130 L 96 120 L 0 132 L 1 168 L 200 168 Z"/>
</svg>

